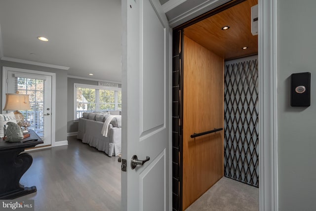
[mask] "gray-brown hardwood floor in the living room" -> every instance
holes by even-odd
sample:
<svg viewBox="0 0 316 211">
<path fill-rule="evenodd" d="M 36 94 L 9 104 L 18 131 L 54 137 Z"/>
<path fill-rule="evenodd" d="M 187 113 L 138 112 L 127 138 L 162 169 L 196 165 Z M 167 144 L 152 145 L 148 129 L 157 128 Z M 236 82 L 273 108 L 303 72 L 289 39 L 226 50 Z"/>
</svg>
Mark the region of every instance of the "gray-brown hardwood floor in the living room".
<svg viewBox="0 0 316 211">
<path fill-rule="evenodd" d="M 119 211 L 118 157 L 68 137 L 68 146 L 29 151 L 33 164 L 22 176 L 37 192 L 18 199 L 35 200 L 35 211 Z"/>
</svg>

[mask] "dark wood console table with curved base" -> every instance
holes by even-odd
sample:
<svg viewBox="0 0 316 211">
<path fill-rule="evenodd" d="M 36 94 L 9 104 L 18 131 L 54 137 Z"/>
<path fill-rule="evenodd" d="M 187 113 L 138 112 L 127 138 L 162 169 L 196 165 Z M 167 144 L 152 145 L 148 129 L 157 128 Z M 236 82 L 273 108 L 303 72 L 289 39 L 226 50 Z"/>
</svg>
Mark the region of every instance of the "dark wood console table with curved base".
<svg viewBox="0 0 316 211">
<path fill-rule="evenodd" d="M 21 142 L 0 140 L 0 199 L 15 199 L 37 191 L 35 186 L 24 187 L 20 184 L 22 175 L 33 162 L 29 153 L 22 152 L 43 143 L 33 130 L 29 129 L 29 133 L 30 137 Z"/>
</svg>

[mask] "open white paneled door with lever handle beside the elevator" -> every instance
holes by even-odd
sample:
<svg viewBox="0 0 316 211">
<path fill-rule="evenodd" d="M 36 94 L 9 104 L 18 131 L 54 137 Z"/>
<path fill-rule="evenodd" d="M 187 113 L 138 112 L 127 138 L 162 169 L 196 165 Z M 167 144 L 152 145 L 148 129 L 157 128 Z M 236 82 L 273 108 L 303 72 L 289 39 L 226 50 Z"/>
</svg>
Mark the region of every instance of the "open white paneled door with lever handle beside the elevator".
<svg viewBox="0 0 316 211">
<path fill-rule="evenodd" d="M 158 0 L 122 0 L 122 211 L 169 210 L 169 25 Z M 132 169 L 131 158 L 150 160 Z"/>
</svg>

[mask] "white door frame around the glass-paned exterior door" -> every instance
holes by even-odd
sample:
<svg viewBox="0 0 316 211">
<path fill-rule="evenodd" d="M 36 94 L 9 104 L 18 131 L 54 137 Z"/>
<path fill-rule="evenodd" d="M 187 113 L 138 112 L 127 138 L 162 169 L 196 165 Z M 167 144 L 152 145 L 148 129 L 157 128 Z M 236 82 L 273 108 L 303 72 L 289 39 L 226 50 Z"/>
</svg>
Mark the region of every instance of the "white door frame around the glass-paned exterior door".
<svg viewBox="0 0 316 211">
<path fill-rule="evenodd" d="M 43 76 L 51 76 L 51 146 L 55 146 L 55 103 L 56 103 L 56 74 L 50 72 L 42 72 L 37 70 L 28 70 L 28 69 L 20 69 L 20 68 L 13 68 L 13 67 L 2 67 L 2 107 L 5 102 L 5 92 L 6 87 L 6 76 L 8 71 L 14 72 L 23 72 L 23 73 L 30 73 L 30 74 L 37 74 Z"/>
</svg>

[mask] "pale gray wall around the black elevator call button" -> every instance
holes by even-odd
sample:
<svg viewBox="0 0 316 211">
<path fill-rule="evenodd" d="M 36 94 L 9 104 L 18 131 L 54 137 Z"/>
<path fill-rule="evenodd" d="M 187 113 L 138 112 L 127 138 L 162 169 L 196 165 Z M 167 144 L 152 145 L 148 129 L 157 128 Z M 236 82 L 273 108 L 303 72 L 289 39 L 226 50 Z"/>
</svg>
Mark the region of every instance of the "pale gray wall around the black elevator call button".
<svg viewBox="0 0 316 211">
<path fill-rule="evenodd" d="M 316 0 L 277 0 L 280 211 L 316 210 Z M 311 106 L 290 106 L 290 75 L 311 72 Z"/>
</svg>

